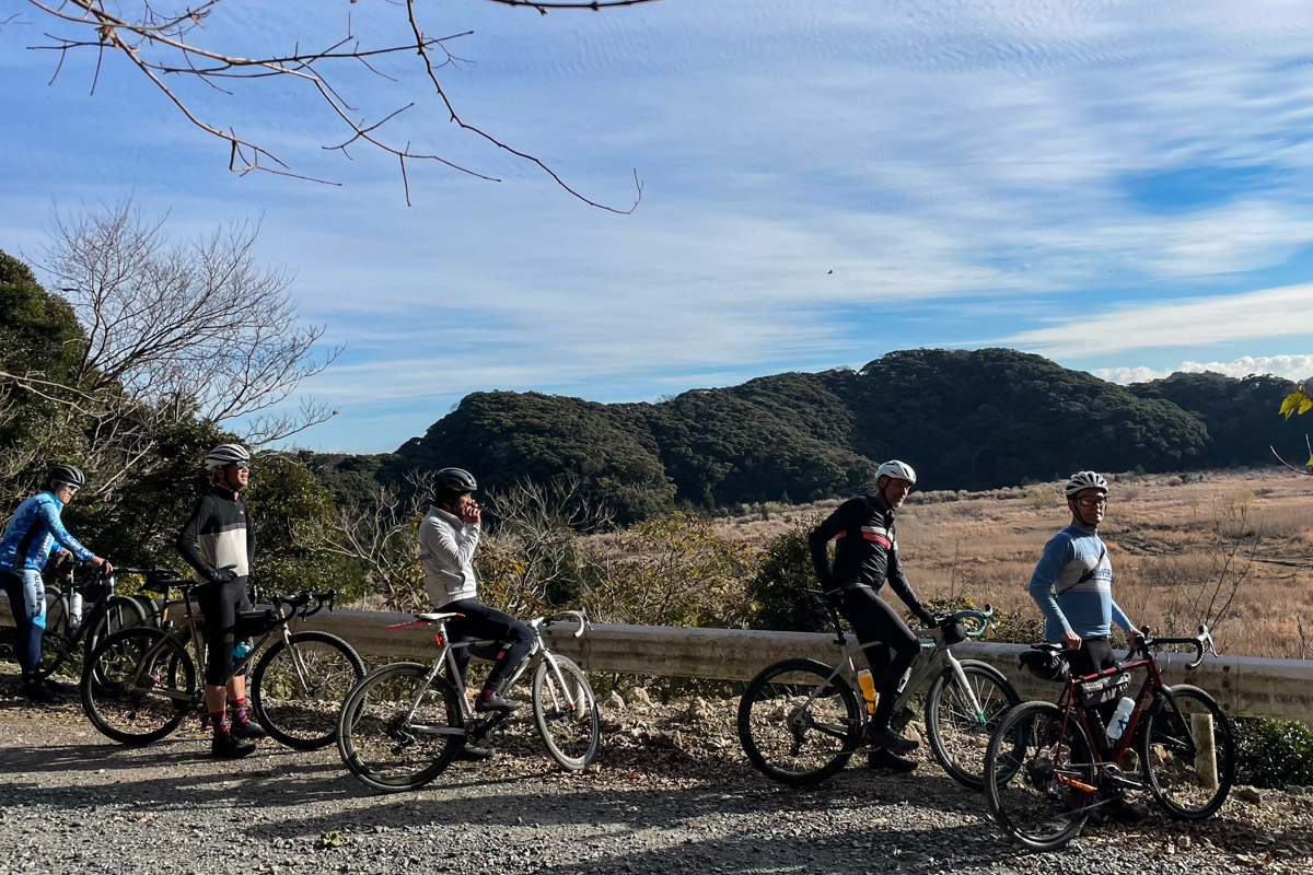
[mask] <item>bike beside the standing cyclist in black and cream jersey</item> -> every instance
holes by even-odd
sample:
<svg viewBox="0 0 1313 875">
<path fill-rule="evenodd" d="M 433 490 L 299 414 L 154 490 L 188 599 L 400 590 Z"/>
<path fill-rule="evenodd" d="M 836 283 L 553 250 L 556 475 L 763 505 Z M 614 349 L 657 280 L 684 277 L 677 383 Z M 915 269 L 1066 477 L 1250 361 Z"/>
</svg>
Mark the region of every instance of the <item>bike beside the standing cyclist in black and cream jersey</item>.
<svg viewBox="0 0 1313 875">
<path fill-rule="evenodd" d="M 152 571 L 146 588 L 165 598 L 172 588 L 181 589 L 183 618 L 165 619 L 160 628 L 110 635 L 92 652 L 81 677 L 83 710 L 92 725 L 127 745 L 163 739 L 188 714 L 198 715 L 202 725 L 207 720 L 200 669 L 205 665 L 204 618 L 190 598 L 190 590 L 202 584 L 168 573 Z M 255 666 L 247 690 L 255 719 L 290 748 L 314 750 L 332 744 L 337 704 L 365 673 L 356 651 L 336 635 L 289 631 L 295 619 L 324 607 L 332 611 L 335 597 L 331 589 L 281 596 L 272 600 L 272 607 L 238 615 L 239 638 L 257 640 L 234 659 L 228 677 Z"/>
</svg>

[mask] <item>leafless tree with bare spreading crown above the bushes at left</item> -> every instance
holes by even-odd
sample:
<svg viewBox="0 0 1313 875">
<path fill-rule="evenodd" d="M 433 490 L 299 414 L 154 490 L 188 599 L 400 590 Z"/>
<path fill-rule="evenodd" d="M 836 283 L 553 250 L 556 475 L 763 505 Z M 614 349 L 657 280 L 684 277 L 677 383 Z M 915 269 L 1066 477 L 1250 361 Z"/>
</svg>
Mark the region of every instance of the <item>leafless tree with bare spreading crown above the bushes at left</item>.
<svg viewBox="0 0 1313 875">
<path fill-rule="evenodd" d="M 242 223 L 176 243 L 130 201 L 56 215 L 41 266 L 87 331 L 81 392 L 121 390 L 175 421 L 240 420 L 253 445 L 332 416 L 312 401 L 272 412 L 340 348 L 315 356 L 324 329 L 298 321 L 285 269 L 256 264 L 257 235 Z"/>
</svg>

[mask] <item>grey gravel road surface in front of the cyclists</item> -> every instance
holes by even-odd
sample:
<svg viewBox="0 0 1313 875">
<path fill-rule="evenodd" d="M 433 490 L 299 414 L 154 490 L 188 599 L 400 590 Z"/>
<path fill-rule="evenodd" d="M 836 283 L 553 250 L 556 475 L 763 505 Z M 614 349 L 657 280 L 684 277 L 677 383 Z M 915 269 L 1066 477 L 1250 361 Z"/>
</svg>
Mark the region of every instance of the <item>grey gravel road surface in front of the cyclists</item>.
<svg viewBox="0 0 1313 875">
<path fill-rule="evenodd" d="M 819 788 L 760 778 L 733 703 L 604 710 L 603 753 L 559 771 L 511 722 L 502 753 L 428 787 L 370 792 L 336 748 L 264 741 L 211 760 L 188 720 L 143 749 L 97 735 L 76 704 L 37 708 L 0 677 L 0 872 L 1081 872 L 1313 870 L 1313 796 L 1233 795 L 1197 825 L 1157 813 L 1069 849 L 1002 844 L 983 799 L 923 763 L 893 778 L 852 765 Z M 525 711 L 527 714 L 527 711 Z"/>
</svg>

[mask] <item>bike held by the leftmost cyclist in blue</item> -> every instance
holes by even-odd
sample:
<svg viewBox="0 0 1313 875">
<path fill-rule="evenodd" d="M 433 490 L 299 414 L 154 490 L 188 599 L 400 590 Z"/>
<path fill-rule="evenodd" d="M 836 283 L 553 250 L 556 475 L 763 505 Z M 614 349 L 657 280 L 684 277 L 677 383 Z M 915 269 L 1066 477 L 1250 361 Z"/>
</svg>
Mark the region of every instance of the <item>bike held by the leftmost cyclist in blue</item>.
<svg viewBox="0 0 1313 875">
<path fill-rule="evenodd" d="M 83 664 L 105 635 L 150 623 L 142 606 L 129 596 L 117 596 L 117 575 L 131 569 L 95 572 L 91 582 L 76 579 L 72 563 L 58 564 L 54 585 L 46 586 L 46 631 L 41 639 L 41 660 L 35 676 L 55 674 L 79 649 Z"/>
</svg>

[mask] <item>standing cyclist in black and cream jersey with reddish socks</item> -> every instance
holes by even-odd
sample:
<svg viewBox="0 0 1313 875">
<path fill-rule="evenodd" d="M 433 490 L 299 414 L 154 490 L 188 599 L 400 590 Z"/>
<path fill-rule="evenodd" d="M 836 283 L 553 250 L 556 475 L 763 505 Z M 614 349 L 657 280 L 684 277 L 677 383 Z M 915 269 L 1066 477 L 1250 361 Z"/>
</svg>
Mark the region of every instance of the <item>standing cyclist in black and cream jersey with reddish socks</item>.
<svg viewBox="0 0 1313 875">
<path fill-rule="evenodd" d="M 239 611 L 251 610 L 247 579 L 255 558 L 255 534 L 240 492 L 251 481 L 251 454 L 236 443 L 222 443 L 205 457 L 214 474 L 210 491 L 196 502 L 192 518 L 177 537 L 177 550 L 205 584 L 196 592 L 205 618 L 209 657 L 205 664 L 205 707 L 214 727 L 210 752 L 215 757 L 244 757 L 255 750 L 249 739 L 265 732 L 246 712 L 246 677 L 232 670 Z M 225 683 L 226 681 L 226 683 Z M 227 719 L 231 708 L 232 719 Z"/>
</svg>

